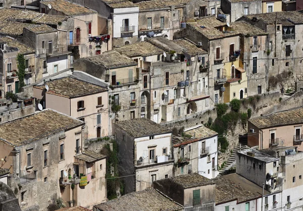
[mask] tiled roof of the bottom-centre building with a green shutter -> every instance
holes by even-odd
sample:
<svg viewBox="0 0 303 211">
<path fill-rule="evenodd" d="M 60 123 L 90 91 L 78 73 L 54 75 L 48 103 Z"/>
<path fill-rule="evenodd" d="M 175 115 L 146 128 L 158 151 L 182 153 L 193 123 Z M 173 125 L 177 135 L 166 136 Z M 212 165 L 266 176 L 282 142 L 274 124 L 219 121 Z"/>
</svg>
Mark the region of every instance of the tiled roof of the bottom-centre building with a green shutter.
<svg viewBox="0 0 303 211">
<path fill-rule="evenodd" d="M 171 180 L 172 182 L 181 185 L 184 189 L 215 184 L 213 180 L 199 175 L 198 173 L 179 175 L 177 177 L 172 177 L 164 180 Z"/>
</svg>

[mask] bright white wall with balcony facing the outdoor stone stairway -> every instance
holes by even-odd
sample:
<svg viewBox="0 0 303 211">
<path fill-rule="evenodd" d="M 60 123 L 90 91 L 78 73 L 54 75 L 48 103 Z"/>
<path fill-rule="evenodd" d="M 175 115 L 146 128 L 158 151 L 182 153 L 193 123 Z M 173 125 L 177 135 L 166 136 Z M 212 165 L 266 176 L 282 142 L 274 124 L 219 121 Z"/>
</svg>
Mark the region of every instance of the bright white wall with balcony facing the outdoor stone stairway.
<svg viewBox="0 0 303 211">
<path fill-rule="evenodd" d="M 215 157 L 215 166 L 218 164 L 218 136 L 204 139 L 199 141 L 198 147 L 199 152 L 202 148 L 202 142 L 206 142 L 206 147 L 209 147 L 209 154 L 210 155 L 210 162 L 208 162 L 208 155 L 199 158 L 198 159 L 198 173 L 204 177 L 207 177 L 209 179 L 215 178 L 219 172 L 214 171 L 212 169 L 212 159 Z M 208 173 L 208 170 L 210 170 L 210 174 Z M 218 169 L 217 169 L 218 170 Z"/>
</svg>

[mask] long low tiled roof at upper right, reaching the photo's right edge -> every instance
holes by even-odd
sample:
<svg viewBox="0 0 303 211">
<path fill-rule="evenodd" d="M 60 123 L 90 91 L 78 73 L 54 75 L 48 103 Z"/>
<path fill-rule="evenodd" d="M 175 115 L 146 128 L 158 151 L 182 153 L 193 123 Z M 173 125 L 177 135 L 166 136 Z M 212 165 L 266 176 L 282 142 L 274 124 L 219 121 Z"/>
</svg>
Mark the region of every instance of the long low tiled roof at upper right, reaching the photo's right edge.
<svg viewBox="0 0 303 211">
<path fill-rule="evenodd" d="M 257 17 L 257 20 L 261 19 L 267 24 L 274 24 L 276 20 L 276 13 L 261 13 L 261 14 L 247 15 L 242 18 L 251 20 L 253 17 Z M 302 24 L 303 14 L 298 11 L 277 12 L 277 24 L 282 24 L 282 20 L 287 20 L 287 19 L 289 19 L 290 22 L 293 22 L 294 24 Z"/>
</svg>

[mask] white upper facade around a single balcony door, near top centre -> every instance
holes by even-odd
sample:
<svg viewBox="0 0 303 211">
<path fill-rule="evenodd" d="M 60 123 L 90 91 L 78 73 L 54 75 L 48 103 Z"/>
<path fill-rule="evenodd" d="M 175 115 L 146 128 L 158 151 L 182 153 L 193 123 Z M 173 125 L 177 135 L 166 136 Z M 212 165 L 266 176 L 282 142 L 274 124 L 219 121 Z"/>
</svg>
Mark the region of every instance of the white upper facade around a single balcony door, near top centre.
<svg viewBox="0 0 303 211">
<path fill-rule="evenodd" d="M 138 18 L 139 18 L 139 8 L 117 8 L 114 9 L 113 14 L 113 36 L 121 37 L 121 27 L 122 20 L 129 19 L 129 26 L 135 26 L 135 32 L 133 36 L 138 36 Z"/>
</svg>

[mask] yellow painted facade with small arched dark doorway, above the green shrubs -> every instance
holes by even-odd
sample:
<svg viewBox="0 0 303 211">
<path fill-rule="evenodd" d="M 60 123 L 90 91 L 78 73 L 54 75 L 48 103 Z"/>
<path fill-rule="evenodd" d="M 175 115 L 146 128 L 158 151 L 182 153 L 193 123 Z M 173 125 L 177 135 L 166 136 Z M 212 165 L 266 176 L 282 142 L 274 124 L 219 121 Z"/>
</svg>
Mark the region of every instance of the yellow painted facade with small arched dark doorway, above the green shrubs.
<svg viewBox="0 0 303 211">
<path fill-rule="evenodd" d="M 242 94 L 242 98 L 247 97 L 247 77 L 246 72 L 240 73 L 236 70 L 239 66 L 239 60 L 237 59 L 234 62 L 225 63 L 224 69 L 226 70 L 226 78 L 227 81 L 224 84 L 225 92 L 224 92 L 224 102 L 230 102 L 233 98 L 240 99 L 240 94 Z M 232 78 L 232 67 L 234 67 L 234 71 L 238 74 Z M 243 67 L 243 66 L 242 66 Z M 246 92 L 245 92 L 246 89 Z"/>
</svg>

